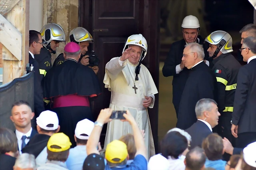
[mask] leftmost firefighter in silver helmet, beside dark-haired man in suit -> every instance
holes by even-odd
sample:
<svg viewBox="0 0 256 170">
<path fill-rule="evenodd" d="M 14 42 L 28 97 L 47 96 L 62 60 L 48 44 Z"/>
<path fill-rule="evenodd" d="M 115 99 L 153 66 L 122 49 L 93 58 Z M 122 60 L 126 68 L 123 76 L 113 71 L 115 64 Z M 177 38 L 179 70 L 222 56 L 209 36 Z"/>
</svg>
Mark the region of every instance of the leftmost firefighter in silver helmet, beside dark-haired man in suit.
<svg viewBox="0 0 256 170">
<path fill-rule="evenodd" d="M 39 64 L 41 81 L 46 72 L 52 68 L 52 54 L 56 54 L 56 48 L 59 43 L 66 44 L 66 37 L 62 27 L 56 23 L 47 23 L 40 31 L 42 40 L 45 42 L 40 54 L 35 55 L 35 59 Z"/>
</svg>

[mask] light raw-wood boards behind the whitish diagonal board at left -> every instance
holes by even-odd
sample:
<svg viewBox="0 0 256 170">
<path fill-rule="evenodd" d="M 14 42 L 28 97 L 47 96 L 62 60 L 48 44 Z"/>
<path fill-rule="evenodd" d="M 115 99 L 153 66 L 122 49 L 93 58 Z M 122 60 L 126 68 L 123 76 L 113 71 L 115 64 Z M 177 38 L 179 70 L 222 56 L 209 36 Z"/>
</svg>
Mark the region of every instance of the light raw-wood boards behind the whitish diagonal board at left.
<svg viewBox="0 0 256 170">
<path fill-rule="evenodd" d="M 29 30 L 29 0 L 20 0 L 16 6 L 6 15 L 6 19 L 20 33 L 22 33 L 22 60 L 18 61 L 12 53 L 3 46 L 3 84 L 11 82 L 14 78 L 23 76 L 26 73 L 28 63 L 28 30 Z"/>
</svg>

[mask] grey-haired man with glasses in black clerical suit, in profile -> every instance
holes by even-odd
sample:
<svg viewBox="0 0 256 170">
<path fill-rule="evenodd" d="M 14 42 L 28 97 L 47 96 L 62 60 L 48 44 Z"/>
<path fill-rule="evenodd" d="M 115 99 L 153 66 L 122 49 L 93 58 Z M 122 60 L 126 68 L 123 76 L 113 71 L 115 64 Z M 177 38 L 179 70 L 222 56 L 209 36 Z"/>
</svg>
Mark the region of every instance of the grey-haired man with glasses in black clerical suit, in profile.
<svg viewBox="0 0 256 170">
<path fill-rule="evenodd" d="M 198 43 L 186 45 L 182 62 L 189 70 L 179 106 L 176 127 L 188 129 L 196 122 L 196 102 L 202 98 L 215 99 L 217 80 L 209 66 L 204 63 L 204 49 Z"/>
</svg>

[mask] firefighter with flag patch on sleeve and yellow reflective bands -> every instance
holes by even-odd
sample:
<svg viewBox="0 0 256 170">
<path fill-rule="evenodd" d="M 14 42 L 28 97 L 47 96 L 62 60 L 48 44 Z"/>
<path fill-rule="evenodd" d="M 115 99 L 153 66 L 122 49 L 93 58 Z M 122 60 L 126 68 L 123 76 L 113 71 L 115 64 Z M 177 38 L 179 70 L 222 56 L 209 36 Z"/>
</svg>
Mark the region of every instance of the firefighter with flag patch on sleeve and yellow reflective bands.
<svg viewBox="0 0 256 170">
<path fill-rule="evenodd" d="M 233 146 L 234 137 L 231 134 L 231 119 L 236 92 L 236 81 L 240 63 L 231 54 L 232 37 L 225 31 L 214 31 L 205 39 L 209 43 L 208 53 L 218 82 L 218 110 L 220 112 L 219 124 L 214 129 L 222 137 L 226 137 Z"/>
</svg>

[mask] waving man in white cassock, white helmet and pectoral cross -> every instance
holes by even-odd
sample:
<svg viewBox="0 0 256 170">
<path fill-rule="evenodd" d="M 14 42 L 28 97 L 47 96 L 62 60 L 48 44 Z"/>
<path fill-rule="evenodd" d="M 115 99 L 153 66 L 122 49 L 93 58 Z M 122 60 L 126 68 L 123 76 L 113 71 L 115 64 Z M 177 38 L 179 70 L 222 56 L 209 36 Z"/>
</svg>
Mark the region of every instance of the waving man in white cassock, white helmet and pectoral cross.
<svg viewBox="0 0 256 170">
<path fill-rule="evenodd" d="M 105 88 L 111 91 L 110 108 L 129 110 L 138 127 L 145 131 L 148 158 L 155 154 L 154 141 L 147 108 L 153 108 L 158 91 L 150 72 L 140 62 L 147 53 L 147 41 L 141 34 L 128 37 L 121 57 L 115 57 L 106 64 Z M 139 74 L 135 73 L 140 66 Z M 108 123 L 104 148 L 122 135 L 133 133 L 128 122 L 112 120 Z"/>
</svg>

